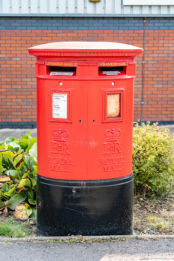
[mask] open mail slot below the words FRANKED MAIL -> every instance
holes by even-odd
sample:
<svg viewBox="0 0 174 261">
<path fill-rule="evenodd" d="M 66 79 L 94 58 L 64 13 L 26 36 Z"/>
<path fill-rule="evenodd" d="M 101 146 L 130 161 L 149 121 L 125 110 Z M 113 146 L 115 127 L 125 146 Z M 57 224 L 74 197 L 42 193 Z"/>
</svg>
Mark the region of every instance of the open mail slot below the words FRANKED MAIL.
<svg viewBox="0 0 174 261">
<path fill-rule="evenodd" d="M 126 67 L 99 67 L 99 76 L 116 76 L 125 75 Z"/>
</svg>

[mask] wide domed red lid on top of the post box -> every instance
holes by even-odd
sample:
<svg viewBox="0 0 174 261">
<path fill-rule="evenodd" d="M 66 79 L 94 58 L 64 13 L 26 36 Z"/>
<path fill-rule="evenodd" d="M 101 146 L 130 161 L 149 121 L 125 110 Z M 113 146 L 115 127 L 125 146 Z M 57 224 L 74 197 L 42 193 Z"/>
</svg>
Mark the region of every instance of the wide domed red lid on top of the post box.
<svg viewBox="0 0 174 261">
<path fill-rule="evenodd" d="M 113 42 L 56 42 L 28 48 L 35 56 L 136 56 L 143 49 Z"/>
</svg>

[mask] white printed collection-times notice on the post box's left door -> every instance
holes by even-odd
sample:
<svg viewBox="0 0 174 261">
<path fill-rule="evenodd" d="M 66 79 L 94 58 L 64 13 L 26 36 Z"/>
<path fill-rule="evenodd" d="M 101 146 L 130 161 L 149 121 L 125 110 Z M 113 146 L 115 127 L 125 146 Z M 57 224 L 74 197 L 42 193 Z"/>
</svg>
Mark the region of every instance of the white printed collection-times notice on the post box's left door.
<svg viewBox="0 0 174 261">
<path fill-rule="evenodd" d="M 52 94 L 52 117 L 67 118 L 67 93 Z"/>
</svg>

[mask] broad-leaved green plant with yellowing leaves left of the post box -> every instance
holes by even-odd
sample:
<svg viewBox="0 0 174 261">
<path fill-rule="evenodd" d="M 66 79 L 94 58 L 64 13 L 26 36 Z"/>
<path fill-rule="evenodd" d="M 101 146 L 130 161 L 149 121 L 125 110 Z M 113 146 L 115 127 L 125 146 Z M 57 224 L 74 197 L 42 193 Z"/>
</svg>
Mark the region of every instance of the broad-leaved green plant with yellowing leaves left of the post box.
<svg viewBox="0 0 174 261">
<path fill-rule="evenodd" d="M 36 218 L 37 139 L 30 134 L 0 143 L 0 210 L 22 220 Z"/>
</svg>

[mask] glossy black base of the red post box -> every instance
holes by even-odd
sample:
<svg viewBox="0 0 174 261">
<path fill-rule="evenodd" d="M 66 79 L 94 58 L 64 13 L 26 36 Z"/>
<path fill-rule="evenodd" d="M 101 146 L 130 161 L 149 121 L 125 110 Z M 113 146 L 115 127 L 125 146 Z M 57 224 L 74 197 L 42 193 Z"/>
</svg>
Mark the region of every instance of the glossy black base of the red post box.
<svg viewBox="0 0 174 261">
<path fill-rule="evenodd" d="M 133 174 L 87 181 L 37 175 L 37 232 L 45 236 L 131 235 Z"/>
</svg>

